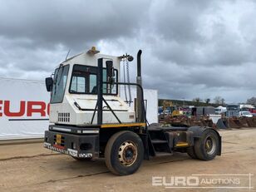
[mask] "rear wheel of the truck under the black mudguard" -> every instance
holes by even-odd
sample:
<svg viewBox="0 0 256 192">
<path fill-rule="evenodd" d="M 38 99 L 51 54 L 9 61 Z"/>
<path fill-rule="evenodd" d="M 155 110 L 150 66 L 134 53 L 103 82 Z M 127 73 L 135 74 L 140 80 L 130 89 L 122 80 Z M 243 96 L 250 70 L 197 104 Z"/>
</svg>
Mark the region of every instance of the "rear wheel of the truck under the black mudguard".
<svg viewBox="0 0 256 192">
<path fill-rule="evenodd" d="M 204 130 L 199 140 L 194 140 L 194 153 L 199 160 L 213 160 L 219 147 L 219 135 L 211 129 Z"/>
</svg>

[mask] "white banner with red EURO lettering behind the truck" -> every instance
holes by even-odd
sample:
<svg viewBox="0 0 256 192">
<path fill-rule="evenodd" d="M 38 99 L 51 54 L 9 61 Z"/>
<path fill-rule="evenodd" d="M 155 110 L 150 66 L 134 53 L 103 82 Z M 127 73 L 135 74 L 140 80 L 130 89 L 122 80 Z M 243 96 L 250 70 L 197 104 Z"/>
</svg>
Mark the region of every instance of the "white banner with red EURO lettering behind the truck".
<svg viewBox="0 0 256 192">
<path fill-rule="evenodd" d="M 50 101 L 44 81 L 0 78 L 0 90 L 0 140 L 42 138 L 49 125 Z M 145 90 L 144 94 L 147 119 L 157 122 L 157 91 Z M 131 95 L 134 101 L 134 87 Z M 123 90 L 121 97 L 125 99 Z"/>
</svg>

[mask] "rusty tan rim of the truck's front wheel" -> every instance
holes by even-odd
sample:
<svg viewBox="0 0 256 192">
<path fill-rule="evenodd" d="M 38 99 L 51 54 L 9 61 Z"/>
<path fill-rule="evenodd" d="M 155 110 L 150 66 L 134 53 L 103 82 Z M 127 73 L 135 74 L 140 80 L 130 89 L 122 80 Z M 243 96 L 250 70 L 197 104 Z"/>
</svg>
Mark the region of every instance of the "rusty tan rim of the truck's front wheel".
<svg viewBox="0 0 256 192">
<path fill-rule="evenodd" d="M 123 142 L 119 147 L 118 159 L 124 166 L 133 165 L 137 159 L 137 155 L 137 147 L 130 140 Z"/>
</svg>

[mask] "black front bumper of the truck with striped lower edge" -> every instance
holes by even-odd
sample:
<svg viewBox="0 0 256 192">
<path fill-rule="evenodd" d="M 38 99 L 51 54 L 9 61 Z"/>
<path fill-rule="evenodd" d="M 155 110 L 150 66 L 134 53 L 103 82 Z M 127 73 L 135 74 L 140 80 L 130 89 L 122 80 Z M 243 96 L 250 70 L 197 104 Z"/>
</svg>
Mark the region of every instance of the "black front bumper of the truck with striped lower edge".
<svg viewBox="0 0 256 192">
<path fill-rule="evenodd" d="M 76 135 L 62 131 L 45 131 L 44 147 L 77 158 L 99 157 L 99 133 Z"/>
</svg>

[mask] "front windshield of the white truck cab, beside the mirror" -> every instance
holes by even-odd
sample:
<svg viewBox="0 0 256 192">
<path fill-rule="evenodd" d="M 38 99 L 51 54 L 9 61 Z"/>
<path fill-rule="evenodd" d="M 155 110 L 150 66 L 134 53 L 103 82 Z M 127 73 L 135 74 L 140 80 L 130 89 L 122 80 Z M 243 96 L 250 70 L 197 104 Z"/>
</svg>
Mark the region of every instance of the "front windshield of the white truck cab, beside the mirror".
<svg viewBox="0 0 256 192">
<path fill-rule="evenodd" d="M 61 103 L 63 101 L 68 69 L 69 65 L 61 66 L 55 70 L 51 103 Z"/>
</svg>

